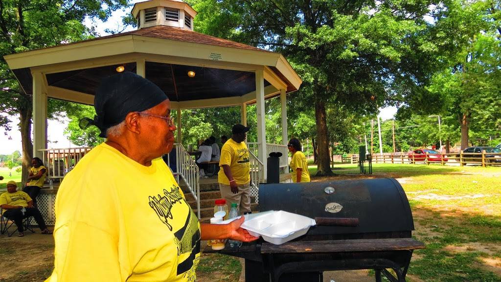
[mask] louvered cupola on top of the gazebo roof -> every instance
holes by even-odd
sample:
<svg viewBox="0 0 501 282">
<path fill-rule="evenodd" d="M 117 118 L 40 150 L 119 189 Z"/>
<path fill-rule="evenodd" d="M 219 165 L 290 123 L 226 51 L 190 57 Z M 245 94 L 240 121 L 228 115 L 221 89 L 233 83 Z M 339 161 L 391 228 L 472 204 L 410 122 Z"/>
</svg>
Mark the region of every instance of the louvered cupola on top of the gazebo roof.
<svg viewBox="0 0 501 282">
<path fill-rule="evenodd" d="M 150 0 L 134 5 L 132 15 L 137 20 L 137 29 L 153 26 L 169 26 L 193 30 L 196 11 L 180 0 Z"/>
</svg>

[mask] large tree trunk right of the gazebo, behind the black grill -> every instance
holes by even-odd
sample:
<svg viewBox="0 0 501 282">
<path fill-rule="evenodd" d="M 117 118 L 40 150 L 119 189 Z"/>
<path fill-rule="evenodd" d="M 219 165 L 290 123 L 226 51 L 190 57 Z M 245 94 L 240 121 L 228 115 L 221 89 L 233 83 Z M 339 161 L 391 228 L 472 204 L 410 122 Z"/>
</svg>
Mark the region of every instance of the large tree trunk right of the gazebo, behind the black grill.
<svg viewBox="0 0 501 282">
<path fill-rule="evenodd" d="M 327 135 L 327 118 L 325 102 L 315 95 L 315 117 L 317 121 L 318 169 L 316 176 L 333 175 L 329 158 L 329 136 Z"/>
</svg>

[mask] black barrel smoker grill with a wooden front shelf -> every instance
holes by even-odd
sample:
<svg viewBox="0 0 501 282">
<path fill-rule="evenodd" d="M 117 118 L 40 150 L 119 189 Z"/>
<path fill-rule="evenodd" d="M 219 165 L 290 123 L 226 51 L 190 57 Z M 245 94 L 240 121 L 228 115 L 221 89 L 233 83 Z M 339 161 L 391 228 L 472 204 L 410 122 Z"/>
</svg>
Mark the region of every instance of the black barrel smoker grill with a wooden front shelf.
<svg viewBox="0 0 501 282">
<path fill-rule="evenodd" d="M 412 213 L 395 179 L 260 184 L 259 210 L 301 214 L 317 226 L 282 245 L 263 239 L 226 245 L 220 253 L 245 258 L 246 282 L 322 281 L 323 271 L 349 269 L 374 269 L 376 281 L 384 275 L 402 282 L 413 250 L 424 248 L 411 238 Z M 337 226 L 321 225 L 332 221 Z"/>
</svg>

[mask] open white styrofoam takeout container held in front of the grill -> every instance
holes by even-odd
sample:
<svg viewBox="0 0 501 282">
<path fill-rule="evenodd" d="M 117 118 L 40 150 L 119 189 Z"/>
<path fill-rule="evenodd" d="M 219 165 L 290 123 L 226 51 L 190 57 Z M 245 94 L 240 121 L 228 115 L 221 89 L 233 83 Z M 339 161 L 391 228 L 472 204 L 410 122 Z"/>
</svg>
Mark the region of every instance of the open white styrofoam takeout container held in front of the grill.
<svg viewBox="0 0 501 282">
<path fill-rule="evenodd" d="M 250 235 L 263 236 L 265 241 L 281 245 L 308 232 L 316 225 L 314 219 L 286 211 L 268 211 L 246 217 L 241 227 Z"/>
</svg>

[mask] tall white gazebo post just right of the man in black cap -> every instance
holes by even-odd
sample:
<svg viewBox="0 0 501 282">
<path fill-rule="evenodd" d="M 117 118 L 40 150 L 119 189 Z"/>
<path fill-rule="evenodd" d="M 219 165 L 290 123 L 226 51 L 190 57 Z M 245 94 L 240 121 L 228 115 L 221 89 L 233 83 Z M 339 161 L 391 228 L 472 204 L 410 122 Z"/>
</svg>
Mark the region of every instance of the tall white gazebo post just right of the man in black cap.
<svg viewBox="0 0 501 282">
<path fill-rule="evenodd" d="M 267 179 L 266 123 L 265 123 L 265 77 L 263 70 L 256 71 L 256 108 L 258 117 L 258 159 L 263 163 L 263 180 Z"/>
</svg>

